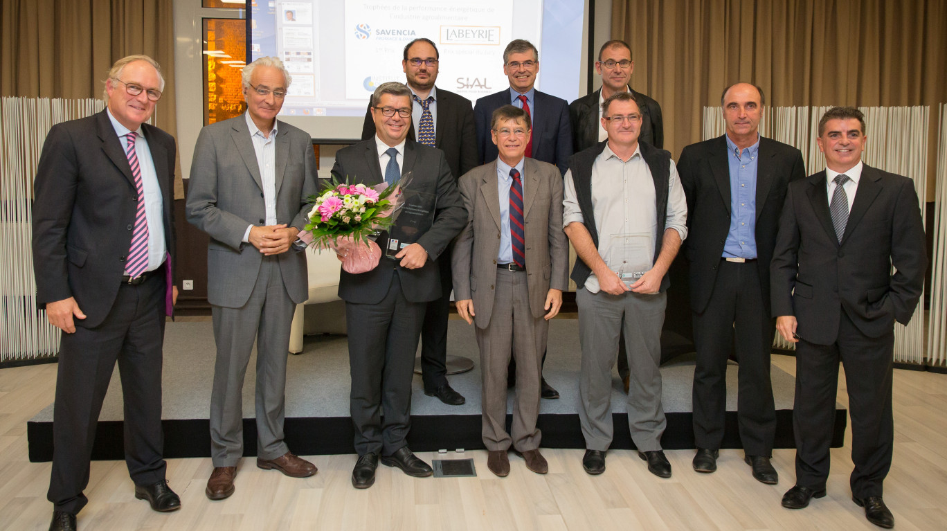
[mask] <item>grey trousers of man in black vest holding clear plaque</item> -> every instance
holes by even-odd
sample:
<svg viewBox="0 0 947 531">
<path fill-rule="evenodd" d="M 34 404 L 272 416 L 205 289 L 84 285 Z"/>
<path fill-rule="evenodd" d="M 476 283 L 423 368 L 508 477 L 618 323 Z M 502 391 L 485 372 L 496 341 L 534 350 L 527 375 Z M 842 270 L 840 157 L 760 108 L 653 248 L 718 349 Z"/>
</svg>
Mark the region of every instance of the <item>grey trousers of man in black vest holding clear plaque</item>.
<svg viewBox="0 0 947 531">
<path fill-rule="evenodd" d="M 661 450 L 667 427 L 661 406 L 661 327 L 667 294 L 627 292 L 610 295 L 576 292 L 582 363 L 579 375 L 579 418 L 585 447 L 608 450 L 612 444 L 612 367 L 620 330 L 631 371 L 628 427 L 639 451 Z"/>
</svg>

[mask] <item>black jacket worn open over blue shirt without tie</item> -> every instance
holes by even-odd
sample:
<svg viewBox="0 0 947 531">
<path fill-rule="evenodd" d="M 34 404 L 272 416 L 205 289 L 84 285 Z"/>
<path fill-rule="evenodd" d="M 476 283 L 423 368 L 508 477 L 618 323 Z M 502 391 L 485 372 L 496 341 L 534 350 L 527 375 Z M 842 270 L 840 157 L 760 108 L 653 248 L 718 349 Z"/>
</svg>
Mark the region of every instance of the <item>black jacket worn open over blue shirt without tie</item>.
<svg viewBox="0 0 947 531">
<path fill-rule="evenodd" d="M 724 242 L 730 231 L 730 169 L 726 135 L 691 144 L 681 151 L 677 171 L 688 197 L 690 307 L 703 313 L 713 293 Z M 759 139 L 757 170 L 757 264 L 764 304 L 770 300 L 769 263 L 776 245 L 779 211 L 786 186 L 806 176 L 802 153 L 770 138 Z"/>
</svg>

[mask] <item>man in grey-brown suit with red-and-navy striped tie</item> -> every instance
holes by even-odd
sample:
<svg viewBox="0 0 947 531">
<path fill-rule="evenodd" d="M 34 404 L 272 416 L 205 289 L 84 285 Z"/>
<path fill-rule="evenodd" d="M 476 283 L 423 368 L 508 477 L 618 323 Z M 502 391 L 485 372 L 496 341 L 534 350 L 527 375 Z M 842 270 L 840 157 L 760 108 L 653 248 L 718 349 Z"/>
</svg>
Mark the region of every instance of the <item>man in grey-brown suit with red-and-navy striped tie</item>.
<svg viewBox="0 0 947 531">
<path fill-rule="evenodd" d="M 548 471 L 536 428 L 540 362 L 548 320 L 559 313 L 569 283 L 563 179 L 559 168 L 524 156 L 529 126 L 523 109 L 504 105 L 493 111 L 491 137 L 499 157 L 460 179 L 469 215 L 452 257 L 457 313 L 476 322 L 480 346 L 487 468 L 500 477 L 509 474 L 510 446 L 523 455 L 527 469 Z M 512 437 L 506 431 L 510 346 L 517 388 Z"/>
</svg>

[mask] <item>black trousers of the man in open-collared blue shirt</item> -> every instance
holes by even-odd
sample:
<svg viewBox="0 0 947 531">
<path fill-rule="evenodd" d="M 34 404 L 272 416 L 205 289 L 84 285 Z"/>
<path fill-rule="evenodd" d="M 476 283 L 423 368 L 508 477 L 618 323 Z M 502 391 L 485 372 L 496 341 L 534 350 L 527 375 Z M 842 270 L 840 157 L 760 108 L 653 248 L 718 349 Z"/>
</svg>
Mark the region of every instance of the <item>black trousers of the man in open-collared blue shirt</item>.
<svg viewBox="0 0 947 531">
<path fill-rule="evenodd" d="M 770 456 L 776 408 L 770 381 L 775 325 L 763 301 L 756 261 L 721 260 L 710 302 L 694 313 L 697 360 L 692 392 L 694 442 L 720 449 L 726 415 L 726 362 L 736 345 L 737 419 L 743 451 Z"/>
</svg>

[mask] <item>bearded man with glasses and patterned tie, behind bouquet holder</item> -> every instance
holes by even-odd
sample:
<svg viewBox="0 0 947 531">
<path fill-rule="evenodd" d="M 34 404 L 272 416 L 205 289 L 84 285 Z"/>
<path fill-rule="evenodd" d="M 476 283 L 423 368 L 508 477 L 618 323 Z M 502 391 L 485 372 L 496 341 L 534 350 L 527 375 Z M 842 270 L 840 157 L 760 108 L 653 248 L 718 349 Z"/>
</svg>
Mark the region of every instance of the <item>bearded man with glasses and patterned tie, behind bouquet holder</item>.
<svg viewBox="0 0 947 531">
<path fill-rule="evenodd" d="M 402 69 L 411 90 L 412 113 L 408 138 L 444 151 L 447 166 L 455 179 L 477 165 L 474 108 L 466 97 L 435 86 L 438 80 L 438 47 L 428 39 L 415 39 L 404 46 Z M 420 134 L 418 133 L 420 132 Z M 375 136 L 371 103 L 365 115 L 362 140 Z M 450 257 L 450 250 L 447 256 Z M 449 405 L 464 398 L 447 381 L 447 316 L 451 310 L 451 260 L 440 263 L 438 299 L 427 303 L 420 332 L 421 380 L 424 394 Z"/>
</svg>

